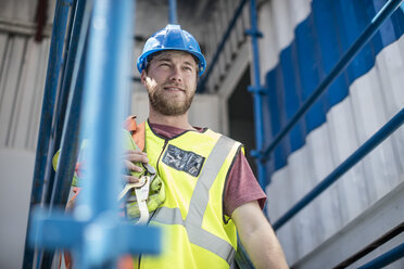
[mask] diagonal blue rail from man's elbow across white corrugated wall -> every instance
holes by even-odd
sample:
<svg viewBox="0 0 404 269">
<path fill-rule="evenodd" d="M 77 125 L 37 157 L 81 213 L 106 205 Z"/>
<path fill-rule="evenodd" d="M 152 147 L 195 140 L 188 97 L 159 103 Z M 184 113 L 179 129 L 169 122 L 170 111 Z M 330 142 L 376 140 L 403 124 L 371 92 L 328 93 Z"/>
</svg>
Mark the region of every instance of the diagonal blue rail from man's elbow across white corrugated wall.
<svg viewBox="0 0 404 269">
<path fill-rule="evenodd" d="M 371 138 L 369 138 L 361 148 L 358 148 L 352 155 L 350 155 L 342 164 L 340 164 L 330 175 L 328 175 L 320 183 L 318 183 L 312 191 L 310 191 L 303 198 L 301 198 L 294 206 L 292 206 L 283 216 L 281 216 L 275 223 L 274 230 L 279 229 L 289 219 L 303 209 L 315 197 L 321 194 L 328 187 L 337 181 L 345 171 L 351 169 L 364 156 L 373 151 L 378 144 L 387 139 L 404 123 L 404 108 L 402 108 L 392 119 L 390 119 L 383 127 L 381 127 Z"/>
</svg>

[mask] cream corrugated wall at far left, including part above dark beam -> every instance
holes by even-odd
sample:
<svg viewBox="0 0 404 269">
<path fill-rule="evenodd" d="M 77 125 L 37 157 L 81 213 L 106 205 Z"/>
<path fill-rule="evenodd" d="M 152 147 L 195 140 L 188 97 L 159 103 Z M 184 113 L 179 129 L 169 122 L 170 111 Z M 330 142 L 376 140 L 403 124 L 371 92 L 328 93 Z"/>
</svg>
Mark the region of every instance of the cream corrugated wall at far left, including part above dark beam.
<svg viewBox="0 0 404 269">
<path fill-rule="evenodd" d="M 0 1 L 0 149 L 36 149 L 54 2 L 36 42 L 37 1 Z"/>
</svg>

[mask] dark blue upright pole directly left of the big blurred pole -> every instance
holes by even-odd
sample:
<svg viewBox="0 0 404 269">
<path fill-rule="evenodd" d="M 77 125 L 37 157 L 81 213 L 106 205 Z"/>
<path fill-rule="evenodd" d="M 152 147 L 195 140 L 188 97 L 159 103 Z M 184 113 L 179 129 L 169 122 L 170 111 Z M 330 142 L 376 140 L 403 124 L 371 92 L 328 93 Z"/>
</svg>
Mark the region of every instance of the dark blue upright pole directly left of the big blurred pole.
<svg viewBox="0 0 404 269">
<path fill-rule="evenodd" d="M 84 81 L 85 56 L 83 56 L 85 42 L 87 40 L 87 29 L 90 21 L 90 12 L 86 9 L 86 0 L 77 0 L 74 25 L 72 28 L 72 39 L 70 52 L 67 54 L 66 72 L 63 78 L 62 90 L 68 92 L 66 120 L 63 120 L 63 128 L 58 126 L 58 137 L 62 143 L 56 143 L 55 149 L 61 146 L 59 169 L 55 175 L 52 196 L 50 200 L 50 210 L 54 206 L 64 205 L 67 202 L 70 187 L 74 175 L 75 159 L 77 158 L 77 144 L 79 133 L 79 118 L 81 111 L 81 93 Z M 62 124 L 62 123 L 60 123 Z M 61 134 L 61 132 L 63 133 Z"/>
</svg>

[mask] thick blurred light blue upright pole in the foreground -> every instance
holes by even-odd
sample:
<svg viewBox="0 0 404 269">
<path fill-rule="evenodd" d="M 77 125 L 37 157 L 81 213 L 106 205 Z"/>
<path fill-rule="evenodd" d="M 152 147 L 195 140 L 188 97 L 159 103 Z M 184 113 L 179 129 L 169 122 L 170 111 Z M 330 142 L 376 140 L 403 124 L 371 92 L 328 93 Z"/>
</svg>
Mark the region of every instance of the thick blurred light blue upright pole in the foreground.
<svg viewBox="0 0 404 269">
<path fill-rule="evenodd" d="M 84 134 L 89 138 L 88 172 L 76 208 L 78 218 L 90 219 L 93 223 L 83 239 L 78 268 L 114 268 L 116 248 L 119 248 L 115 244 L 117 229 L 113 227 L 118 226 L 116 197 L 122 180 L 123 104 L 130 84 L 132 12 L 132 0 L 93 3 L 83 121 Z M 124 241 L 119 243 L 125 244 Z"/>
</svg>

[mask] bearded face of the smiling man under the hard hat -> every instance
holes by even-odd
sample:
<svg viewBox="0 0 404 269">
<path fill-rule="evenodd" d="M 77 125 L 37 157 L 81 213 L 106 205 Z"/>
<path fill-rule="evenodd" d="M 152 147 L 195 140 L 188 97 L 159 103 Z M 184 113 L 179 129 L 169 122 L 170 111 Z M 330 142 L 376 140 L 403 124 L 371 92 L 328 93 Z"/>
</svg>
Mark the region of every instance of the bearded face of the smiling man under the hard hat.
<svg viewBox="0 0 404 269">
<path fill-rule="evenodd" d="M 198 64 L 182 51 L 167 51 L 155 55 L 141 74 L 152 108 L 167 116 L 184 115 L 192 103 L 197 88 Z"/>
</svg>

